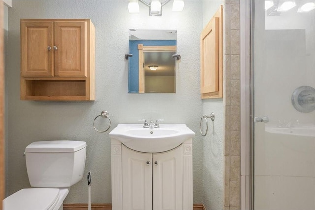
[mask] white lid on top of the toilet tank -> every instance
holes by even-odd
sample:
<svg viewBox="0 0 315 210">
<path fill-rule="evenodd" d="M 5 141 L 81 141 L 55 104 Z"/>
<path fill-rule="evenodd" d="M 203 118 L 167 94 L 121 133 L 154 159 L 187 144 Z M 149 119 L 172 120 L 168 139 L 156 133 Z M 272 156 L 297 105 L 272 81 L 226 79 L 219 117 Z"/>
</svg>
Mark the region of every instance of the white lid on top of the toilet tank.
<svg viewBox="0 0 315 210">
<path fill-rule="evenodd" d="M 86 146 L 87 144 L 84 141 L 36 141 L 28 145 L 25 152 L 76 152 Z"/>
</svg>

